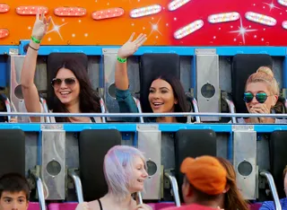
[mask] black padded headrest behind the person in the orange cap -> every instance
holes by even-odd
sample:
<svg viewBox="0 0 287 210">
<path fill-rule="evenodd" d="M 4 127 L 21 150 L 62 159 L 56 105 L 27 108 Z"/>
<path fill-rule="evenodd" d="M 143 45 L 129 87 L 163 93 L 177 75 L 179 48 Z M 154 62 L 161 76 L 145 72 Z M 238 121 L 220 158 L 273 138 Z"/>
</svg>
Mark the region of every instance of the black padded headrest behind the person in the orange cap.
<svg viewBox="0 0 287 210">
<path fill-rule="evenodd" d="M 183 174 L 180 165 L 187 157 L 216 156 L 216 134 L 211 129 L 178 130 L 175 136 L 176 178 L 181 188 Z M 181 190 L 179 190 L 181 191 Z"/>
</svg>

